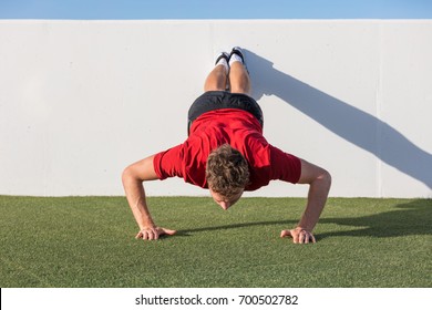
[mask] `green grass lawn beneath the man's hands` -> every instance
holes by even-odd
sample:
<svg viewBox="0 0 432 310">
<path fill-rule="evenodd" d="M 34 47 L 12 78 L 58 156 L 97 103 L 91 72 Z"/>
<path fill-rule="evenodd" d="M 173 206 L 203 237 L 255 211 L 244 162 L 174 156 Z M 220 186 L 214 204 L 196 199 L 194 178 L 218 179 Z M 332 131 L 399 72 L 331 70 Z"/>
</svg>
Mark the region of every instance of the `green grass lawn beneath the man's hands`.
<svg viewBox="0 0 432 310">
<path fill-rule="evenodd" d="M 331 198 L 315 245 L 279 238 L 305 199 L 151 197 L 178 229 L 135 240 L 123 197 L 0 196 L 0 287 L 431 287 L 432 202 Z"/>
</svg>

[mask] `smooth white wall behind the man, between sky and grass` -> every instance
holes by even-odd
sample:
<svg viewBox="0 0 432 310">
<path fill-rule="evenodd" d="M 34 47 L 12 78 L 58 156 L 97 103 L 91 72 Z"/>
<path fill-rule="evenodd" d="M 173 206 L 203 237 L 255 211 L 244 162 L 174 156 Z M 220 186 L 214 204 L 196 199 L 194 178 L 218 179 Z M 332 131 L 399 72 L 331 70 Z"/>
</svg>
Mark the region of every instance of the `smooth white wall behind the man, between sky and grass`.
<svg viewBox="0 0 432 310">
<path fill-rule="evenodd" d="M 0 194 L 123 195 L 122 169 L 185 140 L 216 52 L 237 44 L 268 141 L 329 169 L 331 196 L 432 197 L 431 20 L 2 20 Z"/>
</svg>

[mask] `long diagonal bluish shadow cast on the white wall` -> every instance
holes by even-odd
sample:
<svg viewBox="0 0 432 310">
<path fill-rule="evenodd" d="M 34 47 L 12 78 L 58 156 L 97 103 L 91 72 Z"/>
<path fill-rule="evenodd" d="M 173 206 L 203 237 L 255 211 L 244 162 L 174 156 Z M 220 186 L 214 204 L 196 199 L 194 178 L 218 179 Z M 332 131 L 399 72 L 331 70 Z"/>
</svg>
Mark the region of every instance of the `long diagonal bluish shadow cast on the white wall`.
<svg viewBox="0 0 432 310">
<path fill-rule="evenodd" d="M 346 141 L 432 188 L 432 155 L 376 116 L 328 95 L 245 50 L 253 96 L 276 95 Z"/>
</svg>

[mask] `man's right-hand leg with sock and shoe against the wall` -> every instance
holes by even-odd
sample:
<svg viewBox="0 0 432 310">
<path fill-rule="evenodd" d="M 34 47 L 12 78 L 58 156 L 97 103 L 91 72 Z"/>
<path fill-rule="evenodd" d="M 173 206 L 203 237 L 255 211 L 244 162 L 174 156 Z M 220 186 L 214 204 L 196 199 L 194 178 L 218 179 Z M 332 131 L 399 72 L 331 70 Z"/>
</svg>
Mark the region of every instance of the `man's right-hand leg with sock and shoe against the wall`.
<svg viewBox="0 0 432 310">
<path fill-rule="evenodd" d="M 241 49 L 234 48 L 229 59 L 229 82 L 232 93 L 241 93 L 250 95 L 250 79 L 249 73 L 244 64 Z"/>
</svg>

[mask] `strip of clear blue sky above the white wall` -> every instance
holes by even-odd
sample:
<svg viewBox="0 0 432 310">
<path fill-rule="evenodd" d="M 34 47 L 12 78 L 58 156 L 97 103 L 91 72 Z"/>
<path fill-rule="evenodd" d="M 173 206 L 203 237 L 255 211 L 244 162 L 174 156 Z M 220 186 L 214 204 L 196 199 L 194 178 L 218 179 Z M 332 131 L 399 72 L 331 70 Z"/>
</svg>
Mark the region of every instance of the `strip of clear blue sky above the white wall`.
<svg viewBox="0 0 432 310">
<path fill-rule="evenodd" d="M 0 0 L 0 19 L 431 19 L 432 0 Z"/>
</svg>

